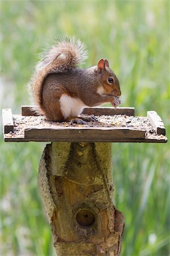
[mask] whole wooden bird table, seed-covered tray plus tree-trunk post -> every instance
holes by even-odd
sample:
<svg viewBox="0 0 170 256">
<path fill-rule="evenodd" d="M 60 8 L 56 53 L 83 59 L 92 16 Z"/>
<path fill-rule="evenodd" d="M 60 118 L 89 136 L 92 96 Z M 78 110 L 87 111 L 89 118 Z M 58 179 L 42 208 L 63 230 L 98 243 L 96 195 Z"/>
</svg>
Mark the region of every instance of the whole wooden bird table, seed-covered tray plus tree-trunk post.
<svg viewBox="0 0 170 256">
<path fill-rule="evenodd" d="M 115 208 L 111 142 L 165 143 L 159 115 L 134 108 L 85 108 L 86 125 L 47 121 L 32 106 L 2 110 L 5 142 L 51 142 L 39 163 L 38 188 L 57 256 L 121 254 L 125 220 Z"/>
</svg>

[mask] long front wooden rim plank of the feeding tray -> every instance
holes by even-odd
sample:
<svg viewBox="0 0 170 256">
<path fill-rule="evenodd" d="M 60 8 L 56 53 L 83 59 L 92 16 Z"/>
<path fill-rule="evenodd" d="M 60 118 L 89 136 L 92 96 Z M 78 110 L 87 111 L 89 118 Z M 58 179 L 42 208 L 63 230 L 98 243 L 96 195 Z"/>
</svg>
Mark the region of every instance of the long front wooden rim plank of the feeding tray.
<svg viewBox="0 0 170 256">
<path fill-rule="evenodd" d="M 51 128 L 31 128 L 24 130 L 24 138 L 28 139 L 55 139 L 56 141 L 113 141 L 113 138 L 145 138 L 145 131 L 128 129 L 125 127 L 57 127 Z"/>
</svg>

